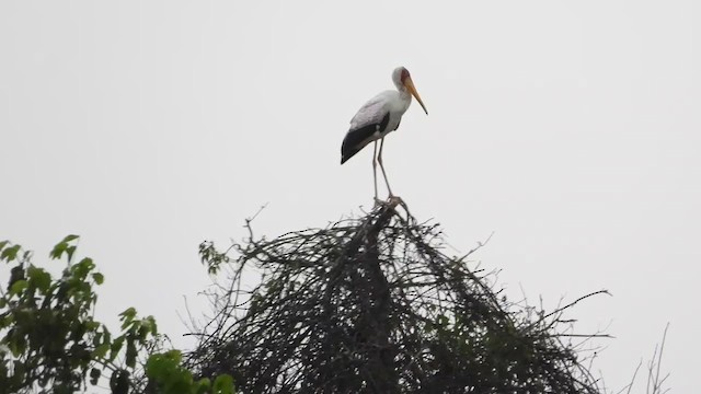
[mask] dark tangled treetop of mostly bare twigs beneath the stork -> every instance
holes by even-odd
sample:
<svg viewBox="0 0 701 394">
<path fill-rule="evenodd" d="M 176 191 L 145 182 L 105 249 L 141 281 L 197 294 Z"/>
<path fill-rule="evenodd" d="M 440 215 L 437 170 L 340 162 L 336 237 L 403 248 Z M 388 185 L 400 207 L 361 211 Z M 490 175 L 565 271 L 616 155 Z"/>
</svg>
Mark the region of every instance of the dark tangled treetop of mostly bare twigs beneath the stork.
<svg viewBox="0 0 701 394">
<path fill-rule="evenodd" d="M 601 392 L 571 340 L 605 335 L 574 334 L 563 314 L 606 291 L 548 313 L 495 290 L 474 251 L 444 251 L 437 224 L 395 204 L 274 240 L 251 231 L 223 252 L 203 243 L 229 276 L 188 362 L 245 393 Z M 252 271 L 262 280 L 245 289 Z"/>
</svg>

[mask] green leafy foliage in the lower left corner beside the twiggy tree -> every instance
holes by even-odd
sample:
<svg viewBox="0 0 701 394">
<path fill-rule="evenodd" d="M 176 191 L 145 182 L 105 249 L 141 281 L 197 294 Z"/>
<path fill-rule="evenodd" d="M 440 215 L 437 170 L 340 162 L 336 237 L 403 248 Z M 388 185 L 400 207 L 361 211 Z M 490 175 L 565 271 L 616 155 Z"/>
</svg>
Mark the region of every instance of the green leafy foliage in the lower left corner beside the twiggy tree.
<svg viewBox="0 0 701 394">
<path fill-rule="evenodd" d="M 0 242 L 0 260 L 11 265 L 0 290 L 0 393 L 73 393 L 103 376 L 115 394 L 233 393 L 231 376 L 194 380 L 179 350 L 159 351 L 153 316 L 125 310 L 116 336 L 95 321 L 104 276 L 91 258 L 76 262 L 77 241 L 68 235 L 51 250 L 51 259 L 67 260 L 57 278 L 31 252 Z"/>
</svg>

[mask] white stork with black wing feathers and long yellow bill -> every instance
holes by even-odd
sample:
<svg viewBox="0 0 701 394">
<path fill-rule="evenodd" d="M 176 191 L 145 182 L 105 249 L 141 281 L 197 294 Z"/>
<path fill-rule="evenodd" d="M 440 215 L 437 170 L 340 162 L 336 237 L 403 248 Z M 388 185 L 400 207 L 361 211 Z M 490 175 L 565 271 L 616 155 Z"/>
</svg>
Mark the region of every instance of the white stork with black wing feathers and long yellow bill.
<svg viewBox="0 0 701 394">
<path fill-rule="evenodd" d="M 393 197 L 390 183 L 387 181 L 387 173 L 382 165 L 382 146 L 384 144 L 384 136 L 391 131 L 397 130 L 402 115 L 409 108 L 412 103 L 412 95 L 416 97 L 418 104 L 426 115 L 428 111 L 422 102 L 418 92 L 414 88 L 412 77 L 404 67 L 398 67 L 392 71 L 392 82 L 397 86 L 397 90 L 384 91 L 365 103 L 350 119 L 350 129 L 343 139 L 343 146 L 341 147 L 341 164 L 348 161 L 356 153 L 358 153 L 365 146 L 370 142 L 375 142 L 375 152 L 372 153 L 372 178 L 375 181 L 375 200 L 379 201 L 377 197 L 377 163 L 380 163 L 380 170 L 382 170 L 382 176 L 387 184 L 387 190 L 390 194 L 390 198 Z M 377 140 L 380 140 L 380 152 L 377 152 Z"/>
</svg>

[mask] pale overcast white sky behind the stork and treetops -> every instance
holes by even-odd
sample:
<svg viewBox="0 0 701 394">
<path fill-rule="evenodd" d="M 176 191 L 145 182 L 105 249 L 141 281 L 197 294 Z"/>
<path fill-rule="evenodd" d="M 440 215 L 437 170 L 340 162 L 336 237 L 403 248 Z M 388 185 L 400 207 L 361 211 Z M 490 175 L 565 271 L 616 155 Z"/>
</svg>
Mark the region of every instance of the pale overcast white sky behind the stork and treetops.
<svg viewBox="0 0 701 394">
<path fill-rule="evenodd" d="M 698 387 L 698 1 L 3 1 L 0 239 L 68 233 L 179 337 L 209 279 L 197 245 L 324 227 L 371 204 L 371 149 L 341 166 L 357 108 L 412 72 L 390 135 L 394 192 L 510 294 L 607 328 L 622 387 L 670 322 L 663 369 Z M 3 280 L 4 281 L 4 280 Z M 641 379 L 643 383 L 644 379 Z M 637 392 L 643 392 L 642 384 Z"/>
</svg>

